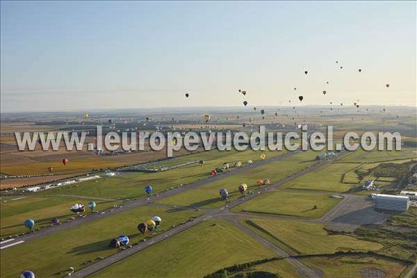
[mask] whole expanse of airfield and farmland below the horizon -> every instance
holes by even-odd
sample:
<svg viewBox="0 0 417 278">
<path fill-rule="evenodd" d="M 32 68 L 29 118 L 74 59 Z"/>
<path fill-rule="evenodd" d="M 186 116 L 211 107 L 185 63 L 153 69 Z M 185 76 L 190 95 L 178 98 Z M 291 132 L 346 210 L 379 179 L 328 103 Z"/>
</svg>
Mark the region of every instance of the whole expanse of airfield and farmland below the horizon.
<svg viewBox="0 0 417 278">
<path fill-rule="evenodd" d="M 170 122 L 166 123 L 170 129 L 247 132 L 253 126 L 268 124 L 270 129 L 293 131 L 297 123 L 308 119 L 316 130 L 341 123 L 335 132 L 338 140 L 345 130 L 363 133 L 382 129 L 400 130 L 406 143 L 401 151 L 358 149 L 336 152 L 322 160 L 316 156 L 326 149 L 198 149 L 183 150 L 169 159 L 165 152 L 156 156 L 151 150 L 117 156 L 97 156 L 86 149 L 42 154 L 40 149 L 16 151 L 10 134 L 15 123 L 10 119 L 10 126 L 6 123 L 7 129 L 2 128 L 1 174 L 17 177 L 1 180 L 1 277 L 17 277 L 23 270 L 31 270 L 37 277 L 226 277 L 216 276 L 225 272 L 229 277 L 250 273 L 275 275 L 253 277 L 412 277 L 417 259 L 417 208 L 410 207 L 407 213 L 377 211 L 368 198 L 370 192 L 361 185 L 375 180 L 379 188 L 372 193 L 403 186 L 404 177 L 416 165 L 415 119 L 401 109 L 389 110 L 389 115 L 373 113 L 372 117 L 356 109 L 329 117 L 320 113 L 323 109 L 310 108 L 308 117 L 292 120 L 286 116 L 294 113 L 291 107 L 280 108 L 273 119 L 252 116 L 253 122 L 245 126 L 236 118 L 225 120 L 232 115 L 216 112 L 212 117 L 219 120 L 210 126 L 201 120 L 193 122 L 195 113 L 174 115 L 178 123 L 154 115 L 147 124 L 162 126 L 165 121 Z M 94 136 L 88 126 L 104 122 L 94 114 L 85 122 L 67 115 L 54 125 L 48 117 L 42 115 L 42 124 L 37 125 L 45 131 L 90 130 L 90 142 Z M 144 116 L 137 117 L 140 119 L 132 120 L 136 126 L 138 121 L 143 123 Z M 382 123 L 381 119 L 388 120 Z M 19 121 L 24 121 L 23 116 Z M 116 126 L 130 128 L 124 121 L 115 120 Z M 35 130 L 29 125 L 22 125 L 22 131 Z M 145 128 L 152 130 L 154 125 Z M 264 160 L 261 154 L 265 154 Z M 69 158 L 69 167 L 60 165 L 63 156 Z M 200 160 L 204 166 L 199 165 Z M 149 164 L 152 167 L 183 166 L 161 172 L 117 171 L 150 161 L 154 161 Z M 241 167 L 234 166 L 238 161 Z M 211 175 L 211 170 L 224 162 L 231 165 L 229 170 Z M 54 172 L 48 172 L 47 167 L 54 167 Z M 117 174 L 106 176 L 106 170 Z M 19 177 L 25 173 L 31 177 Z M 39 182 L 31 179 L 44 179 L 42 186 L 87 173 L 100 178 L 33 193 L 22 191 Z M 270 184 L 257 185 L 259 179 L 269 179 Z M 247 184 L 244 195 L 238 191 L 241 183 Z M 148 196 L 144 188 L 149 184 L 153 190 Z M 220 197 L 220 188 L 229 192 L 227 200 Z M 415 190 L 416 185 L 409 188 Z M 72 204 L 90 201 L 96 202 L 96 212 L 87 208 L 81 213 L 85 217 L 69 210 Z M 140 234 L 138 224 L 154 215 L 161 217 L 161 225 Z M 28 218 L 35 220 L 32 232 L 23 225 Z M 60 224 L 51 223 L 52 218 L 59 218 Z M 111 239 L 121 234 L 129 236 L 129 245 L 109 247 Z"/>
</svg>

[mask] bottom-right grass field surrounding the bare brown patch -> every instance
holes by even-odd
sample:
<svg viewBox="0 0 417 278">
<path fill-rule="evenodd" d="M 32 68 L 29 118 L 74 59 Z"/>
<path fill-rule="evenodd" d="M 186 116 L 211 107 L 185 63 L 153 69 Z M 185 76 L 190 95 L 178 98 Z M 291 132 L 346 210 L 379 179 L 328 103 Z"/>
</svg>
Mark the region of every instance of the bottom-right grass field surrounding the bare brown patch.
<svg viewBox="0 0 417 278">
<path fill-rule="evenodd" d="M 322 270 L 323 278 L 364 277 L 361 275 L 361 270 L 366 269 L 382 270 L 386 275 L 384 277 L 399 277 L 399 274 L 408 266 L 400 260 L 366 254 L 311 256 L 300 258 L 300 261 L 309 267 Z"/>
</svg>

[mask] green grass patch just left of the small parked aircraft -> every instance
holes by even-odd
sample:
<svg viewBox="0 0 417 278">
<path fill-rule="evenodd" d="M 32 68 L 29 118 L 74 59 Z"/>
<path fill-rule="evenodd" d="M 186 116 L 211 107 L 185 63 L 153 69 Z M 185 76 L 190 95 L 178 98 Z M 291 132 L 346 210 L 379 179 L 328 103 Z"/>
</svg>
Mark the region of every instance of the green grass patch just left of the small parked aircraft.
<svg viewBox="0 0 417 278">
<path fill-rule="evenodd" d="M 353 186 L 359 185 L 342 182 L 343 174 L 350 172 L 359 165 L 357 163 L 329 163 L 323 165 L 318 170 L 304 174 L 302 177 L 284 184 L 282 188 L 343 193 L 350 190 Z"/>
</svg>

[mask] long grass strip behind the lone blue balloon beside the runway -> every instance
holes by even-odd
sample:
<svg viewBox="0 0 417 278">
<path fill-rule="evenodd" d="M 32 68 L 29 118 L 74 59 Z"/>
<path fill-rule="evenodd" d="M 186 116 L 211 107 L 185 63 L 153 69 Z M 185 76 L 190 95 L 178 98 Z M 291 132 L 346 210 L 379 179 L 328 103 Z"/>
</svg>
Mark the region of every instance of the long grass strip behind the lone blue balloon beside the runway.
<svg viewBox="0 0 417 278">
<path fill-rule="evenodd" d="M 201 179 L 211 177 L 211 170 L 215 167 L 222 167 L 223 162 L 233 163 L 236 161 L 247 161 L 259 159 L 259 154 L 263 152 L 254 152 L 248 150 L 245 152 L 219 152 L 217 150 L 193 154 L 193 159 L 203 159 L 206 161 L 204 167 L 200 167 L 198 163 L 168 170 L 166 172 L 155 173 L 129 173 L 123 174 L 121 177 L 104 177 L 95 181 L 85 181 L 77 186 L 65 186 L 65 188 L 52 188 L 43 190 L 40 193 L 31 195 L 80 195 L 88 197 L 102 197 L 111 199 L 132 199 L 145 196 L 145 186 L 152 185 L 153 193 L 161 192 L 167 188 L 178 186 L 181 183 L 192 183 Z M 283 154 L 283 152 L 269 152 L 267 158 Z M 191 156 L 188 156 L 190 158 Z"/>
</svg>

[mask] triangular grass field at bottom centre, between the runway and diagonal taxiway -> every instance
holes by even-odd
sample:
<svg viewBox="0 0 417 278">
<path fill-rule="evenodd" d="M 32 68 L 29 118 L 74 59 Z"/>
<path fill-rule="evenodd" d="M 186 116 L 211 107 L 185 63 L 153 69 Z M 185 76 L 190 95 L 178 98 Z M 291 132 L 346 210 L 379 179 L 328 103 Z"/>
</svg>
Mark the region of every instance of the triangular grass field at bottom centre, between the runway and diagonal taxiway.
<svg viewBox="0 0 417 278">
<path fill-rule="evenodd" d="M 208 220 L 115 263 L 92 277 L 198 277 L 235 263 L 275 256 L 222 220 Z M 132 267 L 140 265 L 140 268 Z M 140 270 L 143 268 L 143 271 Z"/>
</svg>

